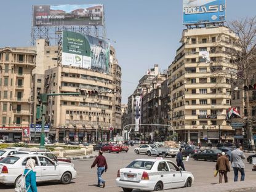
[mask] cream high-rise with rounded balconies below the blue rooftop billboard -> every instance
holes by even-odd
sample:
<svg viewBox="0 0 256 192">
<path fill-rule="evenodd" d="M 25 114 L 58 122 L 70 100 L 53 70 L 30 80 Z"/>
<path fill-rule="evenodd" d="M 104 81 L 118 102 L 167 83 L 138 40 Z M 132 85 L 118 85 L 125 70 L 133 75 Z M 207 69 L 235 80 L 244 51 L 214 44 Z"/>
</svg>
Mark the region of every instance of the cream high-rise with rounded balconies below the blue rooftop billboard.
<svg viewBox="0 0 256 192">
<path fill-rule="evenodd" d="M 183 31 L 182 46 L 169 66 L 170 116 L 179 140 L 217 143 L 225 136 L 233 141 L 233 129 L 226 122 L 231 77 L 220 71 L 235 70 L 228 57 L 234 39 L 225 26 Z M 206 52 L 209 58 L 201 56 Z"/>
</svg>

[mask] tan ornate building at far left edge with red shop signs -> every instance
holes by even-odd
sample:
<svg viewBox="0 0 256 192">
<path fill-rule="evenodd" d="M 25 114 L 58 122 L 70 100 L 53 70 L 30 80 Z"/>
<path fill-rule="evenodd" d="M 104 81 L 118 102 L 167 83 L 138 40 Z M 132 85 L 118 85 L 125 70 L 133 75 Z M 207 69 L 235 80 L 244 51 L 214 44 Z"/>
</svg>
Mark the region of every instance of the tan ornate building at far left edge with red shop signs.
<svg viewBox="0 0 256 192">
<path fill-rule="evenodd" d="M 31 80 L 36 50 L 29 47 L 0 49 L 0 139 L 30 139 Z"/>
</svg>

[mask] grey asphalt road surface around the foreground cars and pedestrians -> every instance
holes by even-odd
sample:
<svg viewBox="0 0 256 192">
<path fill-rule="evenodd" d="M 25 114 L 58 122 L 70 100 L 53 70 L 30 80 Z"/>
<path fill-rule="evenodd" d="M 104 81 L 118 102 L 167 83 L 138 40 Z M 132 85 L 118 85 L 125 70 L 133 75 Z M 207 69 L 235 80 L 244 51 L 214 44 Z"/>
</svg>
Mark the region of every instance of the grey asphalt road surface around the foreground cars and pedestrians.
<svg viewBox="0 0 256 192">
<path fill-rule="evenodd" d="M 108 162 L 109 169 L 103 174 L 103 178 L 106 180 L 105 189 L 98 188 L 95 185 L 97 184 L 97 174 L 96 168 L 90 169 L 90 165 L 94 159 L 81 159 L 74 162 L 74 167 L 78 171 L 78 178 L 73 180 L 73 183 L 69 185 L 61 185 L 58 183 L 42 183 L 39 184 L 38 191 L 43 192 L 70 192 L 70 191 L 113 191 L 118 192 L 122 191 L 121 188 L 116 187 L 114 182 L 118 169 L 127 166 L 132 160 L 137 158 L 156 158 L 148 157 L 145 154 L 135 154 L 134 147 L 131 147 L 128 153 L 104 153 L 106 160 Z M 246 153 L 248 156 L 249 153 Z M 175 158 L 168 158 L 172 161 L 175 161 Z M 246 163 L 246 180 L 255 180 L 255 172 L 252 172 L 252 166 Z M 193 186 L 205 186 L 205 185 L 214 185 L 218 182 L 218 177 L 214 177 L 215 162 L 210 161 L 194 161 L 189 159 L 188 162 L 185 162 L 186 170 L 193 173 L 195 177 L 195 182 Z M 230 182 L 233 182 L 233 170 L 228 173 L 228 179 Z M 10 186 L 0 186 L 1 192 L 14 191 Z M 135 190 L 134 190 L 135 191 Z M 244 191 L 245 192 L 245 191 Z M 250 192 L 250 191 L 248 191 Z"/>
</svg>

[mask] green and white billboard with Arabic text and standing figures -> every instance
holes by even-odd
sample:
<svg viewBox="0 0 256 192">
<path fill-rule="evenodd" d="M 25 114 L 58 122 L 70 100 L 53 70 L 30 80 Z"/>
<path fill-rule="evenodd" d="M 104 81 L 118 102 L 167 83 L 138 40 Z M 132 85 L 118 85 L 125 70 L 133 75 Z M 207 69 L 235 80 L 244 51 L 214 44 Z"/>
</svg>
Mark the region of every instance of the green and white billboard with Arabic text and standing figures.
<svg viewBox="0 0 256 192">
<path fill-rule="evenodd" d="M 62 65 L 108 73 L 109 62 L 110 44 L 108 42 L 89 35 L 63 31 Z"/>
</svg>

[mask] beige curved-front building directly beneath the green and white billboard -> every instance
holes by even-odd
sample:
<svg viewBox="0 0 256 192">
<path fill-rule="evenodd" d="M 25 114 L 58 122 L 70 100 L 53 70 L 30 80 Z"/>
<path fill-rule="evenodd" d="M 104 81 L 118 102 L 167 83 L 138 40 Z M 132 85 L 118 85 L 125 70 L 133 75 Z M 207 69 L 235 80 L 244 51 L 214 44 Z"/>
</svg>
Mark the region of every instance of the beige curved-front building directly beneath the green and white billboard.
<svg viewBox="0 0 256 192">
<path fill-rule="evenodd" d="M 95 142 L 121 134 L 121 68 L 113 48 L 110 55 L 109 74 L 74 66 L 45 71 L 46 93 L 82 92 L 55 96 L 51 107 L 49 100 L 47 116 L 56 140 Z"/>
</svg>

